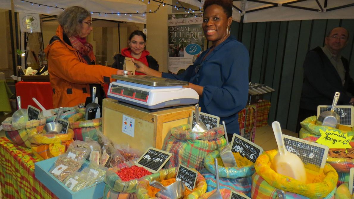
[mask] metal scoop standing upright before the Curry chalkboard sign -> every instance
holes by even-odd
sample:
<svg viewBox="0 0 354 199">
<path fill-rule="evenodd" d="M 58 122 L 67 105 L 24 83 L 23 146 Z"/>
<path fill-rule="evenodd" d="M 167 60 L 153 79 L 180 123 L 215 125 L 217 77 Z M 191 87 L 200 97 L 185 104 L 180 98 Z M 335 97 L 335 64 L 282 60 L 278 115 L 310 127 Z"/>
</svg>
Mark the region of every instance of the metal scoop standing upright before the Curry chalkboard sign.
<svg viewBox="0 0 354 199">
<path fill-rule="evenodd" d="M 330 127 L 338 129 L 339 124 L 341 124 L 341 118 L 339 118 L 339 115 L 336 112 L 334 112 L 334 109 L 336 108 L 340 94 L 341 93 L 339 93 L 339 92 L 336 92 L 334 94 L 331 110 L 327 110 L 325 112 L 322 112 L 318 116 L 318 119 L 316 121 L 317 125 L 330 126 Z"/>
</svg>

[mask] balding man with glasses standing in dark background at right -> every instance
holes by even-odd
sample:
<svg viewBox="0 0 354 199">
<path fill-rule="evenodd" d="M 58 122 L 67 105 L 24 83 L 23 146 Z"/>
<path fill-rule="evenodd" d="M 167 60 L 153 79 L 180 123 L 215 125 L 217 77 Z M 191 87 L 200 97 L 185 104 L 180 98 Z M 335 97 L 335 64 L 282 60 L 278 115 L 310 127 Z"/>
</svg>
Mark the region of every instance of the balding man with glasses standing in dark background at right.
<svg viewBox="0 0 354 199">
<path fill-rule="evenodd" d="M 341 55 L 348 36 L 345 28 L 333 28 L 326 35 L 324 47 L 307 53 L 298 122 L 317 115 L 318 105 L 331 105 L 337 91 L 341 93 L 338 105 L 353 105 L 354 83 L 349 76 L 349 62 Z"/>
</svg>

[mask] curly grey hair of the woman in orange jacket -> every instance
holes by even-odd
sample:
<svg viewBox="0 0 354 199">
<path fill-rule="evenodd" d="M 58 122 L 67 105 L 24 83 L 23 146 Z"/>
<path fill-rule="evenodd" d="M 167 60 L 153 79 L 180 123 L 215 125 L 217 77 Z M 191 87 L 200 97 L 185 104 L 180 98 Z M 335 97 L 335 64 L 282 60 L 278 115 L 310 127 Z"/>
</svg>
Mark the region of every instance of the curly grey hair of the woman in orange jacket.
<svg viewBox="0 0 354 199">
<path fill-rule="evenodd" d="M 90 17 L 91 13 L 80 6 L 68 7 L 58 16 L 58 22 L 68 37 L 76 36 L 81 32 L 82 21 Z"/>
</svg>

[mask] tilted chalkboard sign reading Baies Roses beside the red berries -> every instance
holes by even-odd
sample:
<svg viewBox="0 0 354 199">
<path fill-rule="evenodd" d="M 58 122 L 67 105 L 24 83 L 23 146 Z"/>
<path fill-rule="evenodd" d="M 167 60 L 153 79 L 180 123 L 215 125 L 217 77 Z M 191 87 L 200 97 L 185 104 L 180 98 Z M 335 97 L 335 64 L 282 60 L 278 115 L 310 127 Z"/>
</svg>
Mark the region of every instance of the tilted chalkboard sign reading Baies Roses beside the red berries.
<svg viewBox="0 0 354 199">
<path fill-rule="evenodd" d="M 142 166 L 152 173 L 156 173 L 160 171 L 162 166 L 166 164 L 166 162 L 171 158 L 171 156 L 172 153 L 165 152 L 154 147 L 150 147 L 139 158 L 136 165 Z"/>
</svg>

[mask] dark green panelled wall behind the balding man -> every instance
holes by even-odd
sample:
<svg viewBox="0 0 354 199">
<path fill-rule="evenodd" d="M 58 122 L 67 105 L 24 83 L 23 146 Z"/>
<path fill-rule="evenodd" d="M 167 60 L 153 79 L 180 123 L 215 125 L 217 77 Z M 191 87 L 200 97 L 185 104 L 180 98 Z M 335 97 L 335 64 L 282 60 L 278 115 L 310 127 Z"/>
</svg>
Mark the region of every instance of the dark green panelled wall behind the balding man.
<svg viewBox="0 0 354 199">
<path fill-rule="evenodd" d="M 237 23 L 237 22 L 236 22 Z M 232 26 L 250 53 L 250 81 L 275 89 L 265 94 L 270 100 L 268 123 L 278 120 L 282 128 L 296 131 L 303 82 L 303 62 L 309 50 L 323 46 L 325 35 L 335 27 L 349 31 L 349 40 L 342 55 L 349 59 L 354 77 L 354 19 L 318 19 L 282 22 L 244 23 Z M 235 30 L 235 32 L 234 32 Z"/>
</svg>

